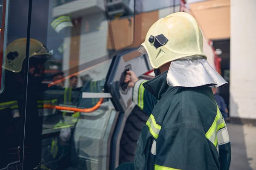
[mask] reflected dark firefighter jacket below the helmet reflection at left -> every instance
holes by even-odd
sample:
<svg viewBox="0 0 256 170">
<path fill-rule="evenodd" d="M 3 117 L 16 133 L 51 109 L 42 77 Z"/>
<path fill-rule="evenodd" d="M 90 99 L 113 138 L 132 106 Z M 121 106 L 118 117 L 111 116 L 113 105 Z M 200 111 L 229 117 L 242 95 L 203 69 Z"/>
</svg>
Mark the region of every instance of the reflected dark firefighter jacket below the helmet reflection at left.
<svg viewBox="0 0 256 170">
<path fill-rule="evenodd" d="M 26 96 L 26 130 L 24 147 L 24 165 L 32 169 L 41 161 L 41 133 L 44 91 L 47 85 L 28 79 Z M 22 117 L 25 115 L 23 105 L 24 82 L 18 73 L 6 71 L 3 92 L 0 94 L 0 133 L 3 140 L 0 145 L 0 169 L 8 163 L 22 159 L 18 147 L 23 142 Z M 51 101 L 50 101 L 51 102 Z M 24 127 L 23 127 L 24 128 Z"/>
</svg>

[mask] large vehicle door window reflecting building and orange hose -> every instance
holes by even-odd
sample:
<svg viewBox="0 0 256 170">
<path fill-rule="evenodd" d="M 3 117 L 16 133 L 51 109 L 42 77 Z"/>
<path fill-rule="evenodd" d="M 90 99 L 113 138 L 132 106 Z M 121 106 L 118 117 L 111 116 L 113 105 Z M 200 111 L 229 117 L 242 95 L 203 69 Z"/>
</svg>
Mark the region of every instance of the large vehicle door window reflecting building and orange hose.
<svg viewBox="0 0 256 170">
<path fill-rule="evenodd" d="M 32 2 L 27 107 L 36 102 L 37 121 L 26 111 L 25 134 L 37 137 L 26 139 L 42 169 L 108 169 L 116 111 L 108 98 L 95 98 L 113 56 L 108 17 L 103 0 Z"/>
</svg>

